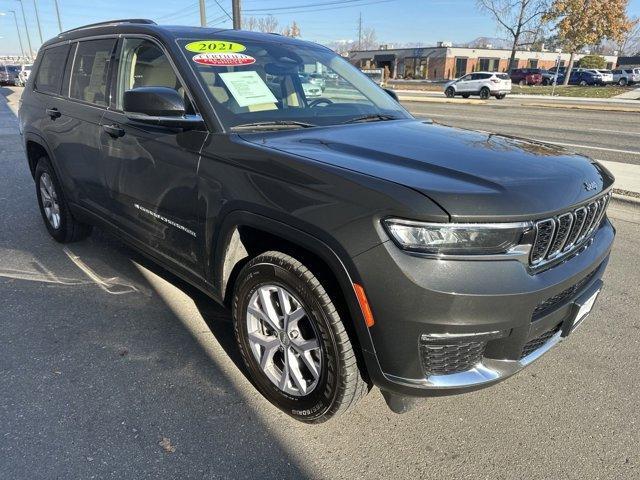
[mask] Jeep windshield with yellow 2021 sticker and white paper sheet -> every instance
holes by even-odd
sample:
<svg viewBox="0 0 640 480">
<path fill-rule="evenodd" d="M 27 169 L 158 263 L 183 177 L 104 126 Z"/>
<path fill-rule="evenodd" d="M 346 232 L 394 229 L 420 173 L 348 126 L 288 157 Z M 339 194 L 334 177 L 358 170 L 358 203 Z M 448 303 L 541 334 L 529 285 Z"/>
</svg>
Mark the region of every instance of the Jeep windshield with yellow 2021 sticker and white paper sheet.
<svg viewBox="0 0 640 480">
<path fill-rule="evenodd" d="M 178 45 L 229 129 L 412 118 L 364 74 L 323 47 L 277 37 L 241 43 L 223 37 L 183 39 Z"/>
</svg>

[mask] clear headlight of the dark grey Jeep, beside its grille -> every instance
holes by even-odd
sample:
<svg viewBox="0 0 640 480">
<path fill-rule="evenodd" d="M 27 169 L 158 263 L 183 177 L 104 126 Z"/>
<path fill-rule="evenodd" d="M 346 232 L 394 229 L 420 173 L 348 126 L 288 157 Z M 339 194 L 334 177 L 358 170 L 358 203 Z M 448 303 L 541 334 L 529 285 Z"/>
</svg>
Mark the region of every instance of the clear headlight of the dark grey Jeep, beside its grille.
<svg viewBox="0 0 640 480">
<path fill-rule="evenodd" d="M 424 223 L 387 219 L 384 225 L 404 249 L 435 255 L 494 255 L 520 245 L 530 223 Z"/>
</svg>

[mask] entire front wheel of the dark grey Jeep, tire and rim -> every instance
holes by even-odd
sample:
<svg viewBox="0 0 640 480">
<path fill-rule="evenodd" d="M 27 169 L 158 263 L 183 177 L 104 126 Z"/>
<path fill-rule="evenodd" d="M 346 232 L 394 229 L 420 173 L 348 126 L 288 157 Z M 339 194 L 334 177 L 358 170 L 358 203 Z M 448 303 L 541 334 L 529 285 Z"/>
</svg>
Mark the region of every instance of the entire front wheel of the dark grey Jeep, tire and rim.
<svg viewBox="0 0 640 480">
<path fill-rule="evenodd" d="M 282 309 L 285 303 L 289 307 Z M 300 309 L 302 314 L 296 315 Z M 297 319 L 285 321 L 284 310 Z M 264 312 L 275 313 L 278 324 Z M 271 251 L 247 263 L 235 284 L 232 314 L 250 378 L 262 395 L 293 418 L 321 423 L 346 412 L 368 393 L 336 305 L 318 278 L 295 258 Z M 302 345 L 308 348 L 304 357 Z M 285 365 L 285 357 L 301 375 Z"/>
</svg>

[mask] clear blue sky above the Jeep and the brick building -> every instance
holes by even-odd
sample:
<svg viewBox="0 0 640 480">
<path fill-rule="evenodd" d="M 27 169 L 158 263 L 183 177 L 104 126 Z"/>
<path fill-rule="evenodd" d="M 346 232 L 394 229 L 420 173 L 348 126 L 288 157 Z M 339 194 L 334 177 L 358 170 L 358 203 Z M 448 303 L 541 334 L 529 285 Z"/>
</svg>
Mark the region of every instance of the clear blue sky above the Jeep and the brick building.
<svg viewBox="0 0 640 480">
<path fill-rule="evenodd" d="M 23 0 L 34 48 L 40 45 L 35 20 L 34 1 Z M 42 37 L 54 36 L 57 22 L 54 0 L 36 0 L 40 12 Z M 151 18 L 158 23 L 184 25 L 199 24 L 196 0 L 58 0 L 64 29 L 114 18 Z M 231 0 L 218 0 L 231 11 Z M 309 6 L 306 9 L 300 5 Z M 320 6 L 319 4 L 331 4 Z M 281 25 L 296 20 L 302 37 L 316 42 L 355 39 L 358 15 L 362 13 L 365 27 L 376 30 L 380 43 L 422 42 L 434 44 L 439 40 L 464 42 L 479 36 L 496 36 L 495 24 L 478 13 L 475 0 L 242 0 L 245 15 L 264 15 L 268 11 Z M 12 14 L 18 13 L 20 31 L 26 48 L 26 37 L 17 0 L 0 0 L 0 54 L 19 52 L 17 33 Z M 259 10 L 250 12 L 250 10 Z M 296 11 L 291 11 L 296 10 Z M 629 13 L 640 16 L 640 0 L 631 0 Z M 207 18 L 216 26 L 230 27 L 231 21 L 215 0 L 207 0 Z"/>
</svg>

